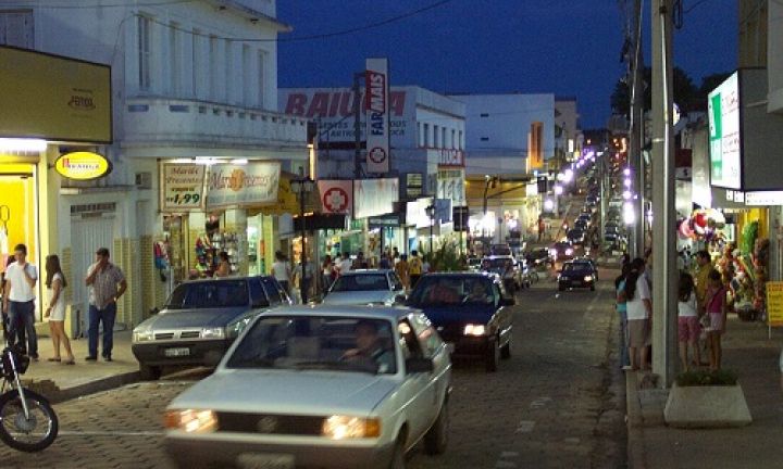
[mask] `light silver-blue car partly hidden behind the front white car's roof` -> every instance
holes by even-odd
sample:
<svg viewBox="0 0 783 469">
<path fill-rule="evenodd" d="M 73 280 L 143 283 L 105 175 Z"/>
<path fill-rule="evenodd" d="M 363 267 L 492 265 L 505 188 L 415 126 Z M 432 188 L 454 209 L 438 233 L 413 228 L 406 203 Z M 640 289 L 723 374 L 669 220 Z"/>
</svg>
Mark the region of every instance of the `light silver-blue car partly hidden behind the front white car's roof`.
<svg viewBox="0 0 783 469">
<path fill-rule="evenodd" d="M 403 293 L 402 281 L 394 270 L 350 270 L 332 283 L 323 304 L 391 306 Z"/>
</svg>

